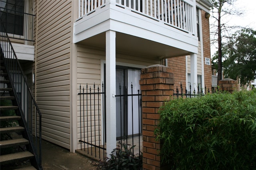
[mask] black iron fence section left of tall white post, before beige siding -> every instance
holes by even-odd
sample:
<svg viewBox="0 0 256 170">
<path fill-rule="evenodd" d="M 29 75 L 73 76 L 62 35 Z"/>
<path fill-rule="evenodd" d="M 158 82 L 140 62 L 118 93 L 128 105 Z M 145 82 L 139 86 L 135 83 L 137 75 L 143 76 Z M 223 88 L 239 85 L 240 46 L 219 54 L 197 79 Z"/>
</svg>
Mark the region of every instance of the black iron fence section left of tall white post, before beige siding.
<svg viewBox="0 0 256 170">
<path fill-rule="evenodd" d="M 95 84 L 93 85 L 93 88 L 86 84 L 86 89 L 84 89 L 84 87 L 82 88 L 80 85 L 80 93 L 78 93 L 78 95 L 80 96 L 79 142 L 81 150 L 84 148 L 84 151 L 87 151 L 87 154 L 99 158 L 102 158 L 103 156 L 103 158 L 105 158 L 106 96 L 104 92 L 104 84 L 102 83 L 102 92 L 99 86 L 96 88 Z M 100 100 L 101 98 L 102 103 Z M 101 116 L 100 113 L 103 113 L 103 116 Z M 102 122 L 100 119 L 101 117 L 103 119 Z"/>
</svg>

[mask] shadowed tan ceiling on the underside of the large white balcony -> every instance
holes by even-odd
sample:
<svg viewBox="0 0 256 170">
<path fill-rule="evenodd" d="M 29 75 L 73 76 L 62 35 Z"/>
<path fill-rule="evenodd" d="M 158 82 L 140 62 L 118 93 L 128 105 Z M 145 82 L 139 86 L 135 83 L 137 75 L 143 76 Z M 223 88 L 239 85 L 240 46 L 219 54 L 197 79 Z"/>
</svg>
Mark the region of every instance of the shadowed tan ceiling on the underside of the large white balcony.
<svg viewBox="0 0 256 170">
<path fill-rule="evenodd" d="M 105 42 L 105 33 L 100 33 L 80 41 L 79 44 L 105 51 Z M 151 59 L 164 59 L 189 54 L 188 51 L 182 49 L 119 32 L 116 32 L 116 51 L 117 53 Z"/>
</svg>

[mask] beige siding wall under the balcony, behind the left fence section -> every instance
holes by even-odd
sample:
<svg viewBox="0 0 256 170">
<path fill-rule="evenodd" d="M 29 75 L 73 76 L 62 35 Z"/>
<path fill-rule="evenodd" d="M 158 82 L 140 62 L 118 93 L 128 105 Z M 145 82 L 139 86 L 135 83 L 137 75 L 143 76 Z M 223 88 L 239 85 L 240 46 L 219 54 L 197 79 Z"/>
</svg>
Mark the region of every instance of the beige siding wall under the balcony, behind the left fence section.
<svg viewBox="0 0 256 170">
<path fill-rule="evenodd" d="M 97 88 L 99 86 L 100 89 L 101 87 L 101 59 L 105 59 L 105 54 L 102 51 L 96 51 L 92 49 L 88 49 L 85 47 L 82 47 L 78 45 L 77 48 L 77 93 L 80 92 L 80 86 L 81 88 L 85 88 L 86 92 L 86 84 L 88 84 L 88 92 L 89 88 L 92 88 L 92 92 L 94 89 L 94 83 L 95 83 L 95 88 L 96 92 Z M 82 91 L 81 91 L 82 92 Z M 82 109 L 82 112 L 80 113 L 80 97 L 83 98 L 83 96 L 77 96 L 77 147 L 78 149 L 81 148 L 79 140 L 85 140 L 86 142 L 88 141 L 89 143 L 92 142 L 93 144 L 98 145 L 99 144 L 99 138 L 95 137 L 94 131 L 96 131 L 96 136 L 101 135 L 101 110 L 99 111 L 98 108 L 101 106 L 98 105 L 98 102 L 101 103 L 100 100 L 98 100 L 98 97 L 95 96 L 95 110 L 94 110 L 94 96 L 91 96 L 91 103 L 90 103 L 90 96 L 87 97 L 88 99 L 88 104 L 92 104 L 93 107 L 88 107 L 88 112 L 86 111 L 86 107 L 84 108 L 85 110 Z M 86 95 L 84 95 L 85 98 L 85 103 L 86 103 Z M 91 111 L 90 111 L 91 110 Z M 94 119 L 95 116 L 95 119 Z M 80 119 L 82 120 L 82 125 L 80 123 Z M 83 122 L 85 120 L 85 122 Z M 87 122 L 88 120 L 88 122 Z M 96 120 L 96 121 L 95 121 Z M 91 128 L 91 123 L 92 123 L 92 128 Z M 85 133 L 84 133 L 85 129 Z M 81 133 L 82 131 L 82 133 Z M 85 136 L 84 136 L 85 135 Z M 82 137 L 81 137 L 82 136 Z M 96 141 L 95 141 L 96 138 Z M 82 148 L 84 145 L 82 145 Z M 87 145 L 86 145 L 87 147 Z"/>
</svg>

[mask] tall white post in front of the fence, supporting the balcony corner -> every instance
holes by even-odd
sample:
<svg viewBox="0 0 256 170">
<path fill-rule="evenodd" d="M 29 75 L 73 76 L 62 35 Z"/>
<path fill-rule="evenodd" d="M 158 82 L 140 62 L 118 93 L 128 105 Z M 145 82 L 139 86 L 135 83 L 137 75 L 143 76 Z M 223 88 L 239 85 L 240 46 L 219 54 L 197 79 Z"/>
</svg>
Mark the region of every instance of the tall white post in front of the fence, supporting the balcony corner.
<svg viewBox="0 0 256 170">
<path fill-rule="evenodd" d="M 106 145 L 116 148 L 116 32 L 106 31 Z"/>
</svg>

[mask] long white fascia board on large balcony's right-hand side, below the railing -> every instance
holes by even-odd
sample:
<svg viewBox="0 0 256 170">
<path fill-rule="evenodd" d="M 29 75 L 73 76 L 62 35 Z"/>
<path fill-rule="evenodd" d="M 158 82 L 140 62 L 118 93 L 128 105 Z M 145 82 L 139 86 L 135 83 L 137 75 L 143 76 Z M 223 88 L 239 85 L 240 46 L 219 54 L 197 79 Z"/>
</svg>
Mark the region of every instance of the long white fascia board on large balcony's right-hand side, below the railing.
<svg viewBox="0 0 256 170">
<path fill-rule="evenodd" d="M 134 13 L 135 14 L 135 13 Z M 198 38 L 170 27 L 160 21 L 154 21 L 140 15 L 124 14 L 116 10 L 110 12 L 110 29 L 141 37 L 158 43 L 166 44 L 191 53 L 198 53 Z"/>
</svg>

